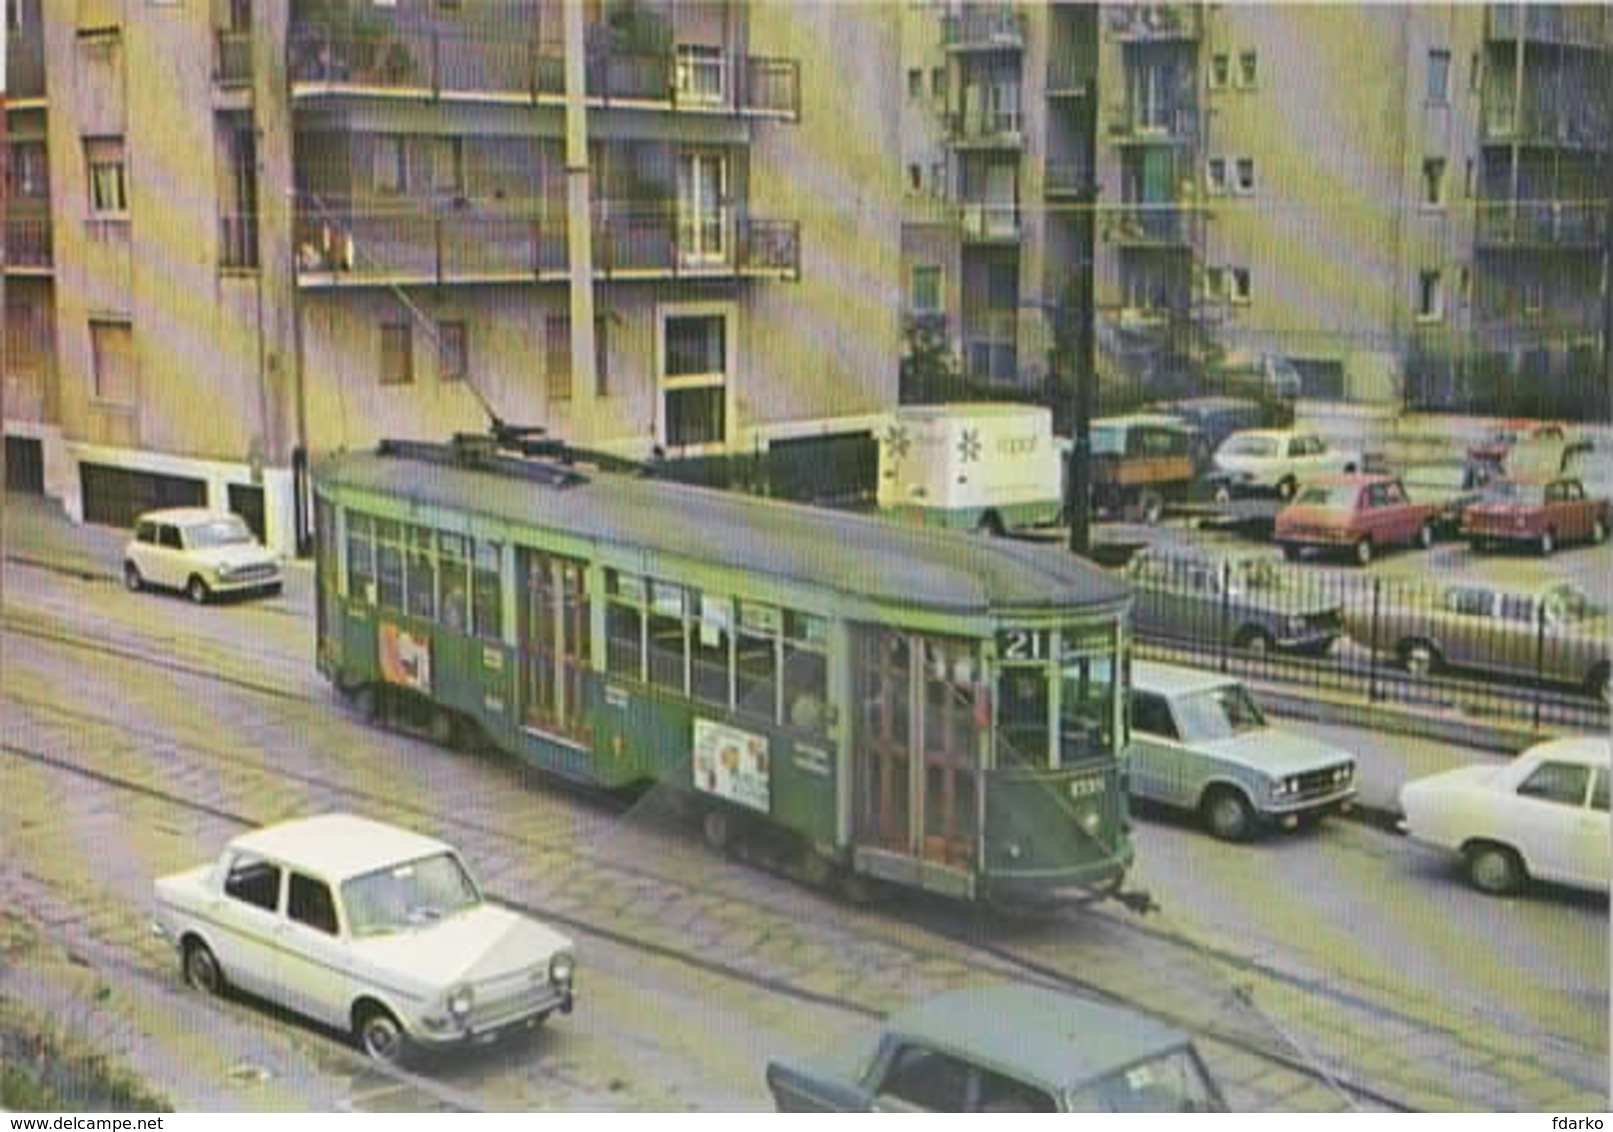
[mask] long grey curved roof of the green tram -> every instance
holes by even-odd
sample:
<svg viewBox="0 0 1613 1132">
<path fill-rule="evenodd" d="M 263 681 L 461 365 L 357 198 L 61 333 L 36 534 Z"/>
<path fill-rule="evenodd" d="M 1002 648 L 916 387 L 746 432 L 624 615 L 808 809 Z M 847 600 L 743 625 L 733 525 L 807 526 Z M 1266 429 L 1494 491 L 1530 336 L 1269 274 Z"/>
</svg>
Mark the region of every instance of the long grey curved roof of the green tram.
<svg viewBox="0 0 1613 1132">
<path fill-rule="evenodd" d="M 379 452 L 344 453 L 323 484 L 474 511 L 598 543 L 955 613 L 1123 601 L 1129 587 L 1065 550 L 910 527 L 658 479 L 587 471 L 561 485 Z"/>
</svg>

